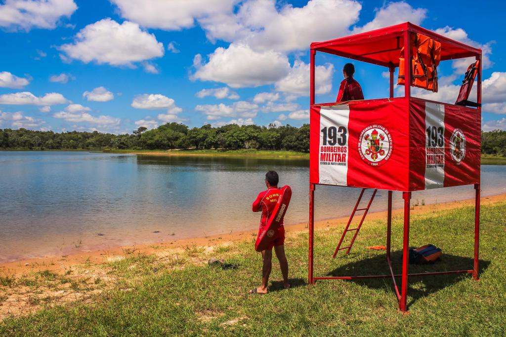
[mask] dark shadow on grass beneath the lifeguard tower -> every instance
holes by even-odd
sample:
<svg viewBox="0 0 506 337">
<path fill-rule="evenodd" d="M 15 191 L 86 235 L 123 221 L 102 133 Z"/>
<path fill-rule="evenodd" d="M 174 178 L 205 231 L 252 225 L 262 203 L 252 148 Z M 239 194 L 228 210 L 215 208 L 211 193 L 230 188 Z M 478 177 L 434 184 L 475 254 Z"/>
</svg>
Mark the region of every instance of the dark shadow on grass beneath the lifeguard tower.
<svg viewBox="0 0 506 337">
<path fill-rule="evenodd" d="M 402 272 L 402 251 L 391 253 L 392 269 L 395 274 Z M 441 259 L 432 264 L 415 265 L 410 264 L 408 272 L 410 274 L 438 272 L 447 270 L 468 270 L 473 269 L 474 259 L 462 257 L 453 254 L 443 253 Z M 490 261 L 480 260 L 480 274 L 490 265 Z M 356 276 L 356 275 L 384 275 L 390 274 L 387 258 L 385 254 L 350 262 L 331 272 L 327 276 Z M 408 278 L 408 299 L 411 298 L 408 305 L 416 300 L 436 293 L 452 284 L 455 284 L 466 277 L 472 277 L 469 273 L 446 274 L 446 275 L 428 275 L 428 276 L 410 276 Z M 394 291 L 392 278 L 368 278 L 349 280 L 356 284 L 367 286 L 373 289 L 384 289 Z M 397 286 L 401 286 L 401 278 L 396 277 Z M 421 285 L 420 285 L 421 282 Z M 416 284 L 416 287 L 413 285 Z"/>
</svg>

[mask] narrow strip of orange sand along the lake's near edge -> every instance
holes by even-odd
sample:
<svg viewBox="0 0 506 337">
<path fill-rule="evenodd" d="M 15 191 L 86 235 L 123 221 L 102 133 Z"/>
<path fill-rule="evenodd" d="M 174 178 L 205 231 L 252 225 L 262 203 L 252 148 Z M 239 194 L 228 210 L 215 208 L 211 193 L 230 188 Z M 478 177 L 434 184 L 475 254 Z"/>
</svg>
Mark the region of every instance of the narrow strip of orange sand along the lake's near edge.
<svg viewBox="0 0 506 337">
<path fill-rule="evenodd" d="M 501 194 L 492 197 L 484 197 L 481 202 L 482 205 L 495 203 L 506 200 L 506 194 Z M 415 206 L 411 211 L 412 214 L 423 214 L 433 211 L 452 209 L 462 206 L 472 206 L 474 200 L 465 200 L 458 202 L 442 203 L 435 205 Z M 397 209 L 393 211 L 393 216 L 402 216 L 402 210 Z M 367 215 L 366 220 L 386 219 L 387 212 L 374 212 Z M 348 221 L 348 217 L 341 217 L 335 219 L 328 219 L 322 221 L 315 221 L 315 228 L 324 228 L 329 226 L 343 226 Z M 292 225 L 285 225 L 287 235 L 307 230 L 307 223 L 298 223 Z M 161 251 L 173 251 L 186 249 L 187 247 L 213 247 L 218 245 L 230 245 L 243 240 L 252 240 L 256 235 L 256 230 L 248 230 L 238 233 L 219 234 L 206 237 L 194 237 L 187 239 L 178 239 L 171 242 L 161 242 L 152 244 L 143 244 L 135 246 L 117 247 L 107 250 L 97 250 L 85 253 L 78 253 L 75 255 L 61 255 L 45 258 L 36 258 L 29 260 L 21 260 L 9 263 L 0 264 L 0 272 L 6 272 L 13 275 L 23 275 L 30 272 L 41 270 L 50 270 L 54 272 L 63 272 L 72 266 L 87 263 L 87 264 L 101 264 L 111 259 L 121 258 L 125 255 L 135 253 L 144 254 L 159 254 Z"/>
</svg>

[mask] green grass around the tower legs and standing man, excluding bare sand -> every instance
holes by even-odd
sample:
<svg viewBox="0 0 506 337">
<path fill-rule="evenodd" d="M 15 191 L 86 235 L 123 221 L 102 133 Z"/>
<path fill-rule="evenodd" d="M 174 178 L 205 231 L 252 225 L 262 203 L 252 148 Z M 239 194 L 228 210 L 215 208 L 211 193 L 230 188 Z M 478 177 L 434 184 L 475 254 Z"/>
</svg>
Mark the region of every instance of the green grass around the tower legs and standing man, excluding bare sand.
<svg viewBox="0 0 506 337">
<path fill-rule="evenodd" d="M 232 266 L 226 270 L 190 261 L 179 269 L 158 265 L 163 269 L 154 272 L 154 257 L 132 256 L 112 264 L 114 273 L 138 275 L 128 287 L 116 286 L 89 304 L 8 318 L 0 323 L 0 335 L 504 335 L 505 213 L 506 203 L 482 208 L 480 281 L 469 275 L 412 277 L 409 315 L 397 310 L 390 279 L 307 285 L 308 235 L 302 232 L 286 242 L 290 290 L 282 290 L 274 262 L 270 293 L 246 295 L 258 285 L 261 272 L 252 241 L 228 251 L 185 253 L 224 258 Z M 410 271 L 471 268 L 473 219 L 471 207 L 413 216 L 411 245 L 432 243 L 444 255 L 441 262 L 410 266 Z M 386 273 L 384 252 L 365 248 L 384 244 L 385 227 L 385 221 L 366 222 L 350 255 L 335 260 L 331 254 L 342 228 L 317 231 L 315 274 Z M 401 237 L 397 217 L 392 243 L 396 272 Z"/>
</svg>

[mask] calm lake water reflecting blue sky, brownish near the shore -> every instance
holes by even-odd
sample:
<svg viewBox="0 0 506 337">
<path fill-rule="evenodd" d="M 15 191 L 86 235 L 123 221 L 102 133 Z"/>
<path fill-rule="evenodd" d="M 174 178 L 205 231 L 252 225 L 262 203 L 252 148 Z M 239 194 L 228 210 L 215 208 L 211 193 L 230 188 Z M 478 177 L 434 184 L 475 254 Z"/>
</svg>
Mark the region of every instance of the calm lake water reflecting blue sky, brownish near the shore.
<svg viewBox="0 0 506 337">
<path fill-rule="evenodd" d="M 250 205 L 271 169 L 293 190 L 285 223 L 307 221 L 305 160 L 0 152 L 0 262 L 254 229 L 260 214 Z M 504 173 L 482 166 L 483 196 L 506 192 Z M 348 215 L 358 193 L 318 186 L 316 219 Z M 386 192 L 378 194 L 373 211 L 386 208 Z M 473 196 L 473 186 L 460 186 L 415 192 L 413 201 Z"/>
</svg>

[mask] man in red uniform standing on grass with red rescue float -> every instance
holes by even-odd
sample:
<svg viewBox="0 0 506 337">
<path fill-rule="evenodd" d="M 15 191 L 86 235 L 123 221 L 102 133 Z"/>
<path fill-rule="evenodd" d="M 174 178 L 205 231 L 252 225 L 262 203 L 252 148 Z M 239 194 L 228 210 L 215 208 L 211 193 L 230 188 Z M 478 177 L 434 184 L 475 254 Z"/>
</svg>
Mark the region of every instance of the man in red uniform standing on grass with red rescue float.
<svg viewBox="0 0 506 337">
<path fill-rule="evenodd" d="M 279 176 L 275 171 L 269 171 L 265 175 L 267 189 L 260 192 L 253 202 L 253 212 L 262 212 L 260 227 L 255 243 L 255 250 L 262 253 L 262 284 L 249 291 L 250 294 L 267 294 L 269 275 L 272 269 L 272 249 L 276 252 L 279 260 L 281 274 L 283 275 L 283 287 L 290 287 L 288 283 L 288 261 L 284 252 L 285 231 L 283 218 L 288 209 L 291 198 L 290 186 L 278 187 Z"/>
</svg>

